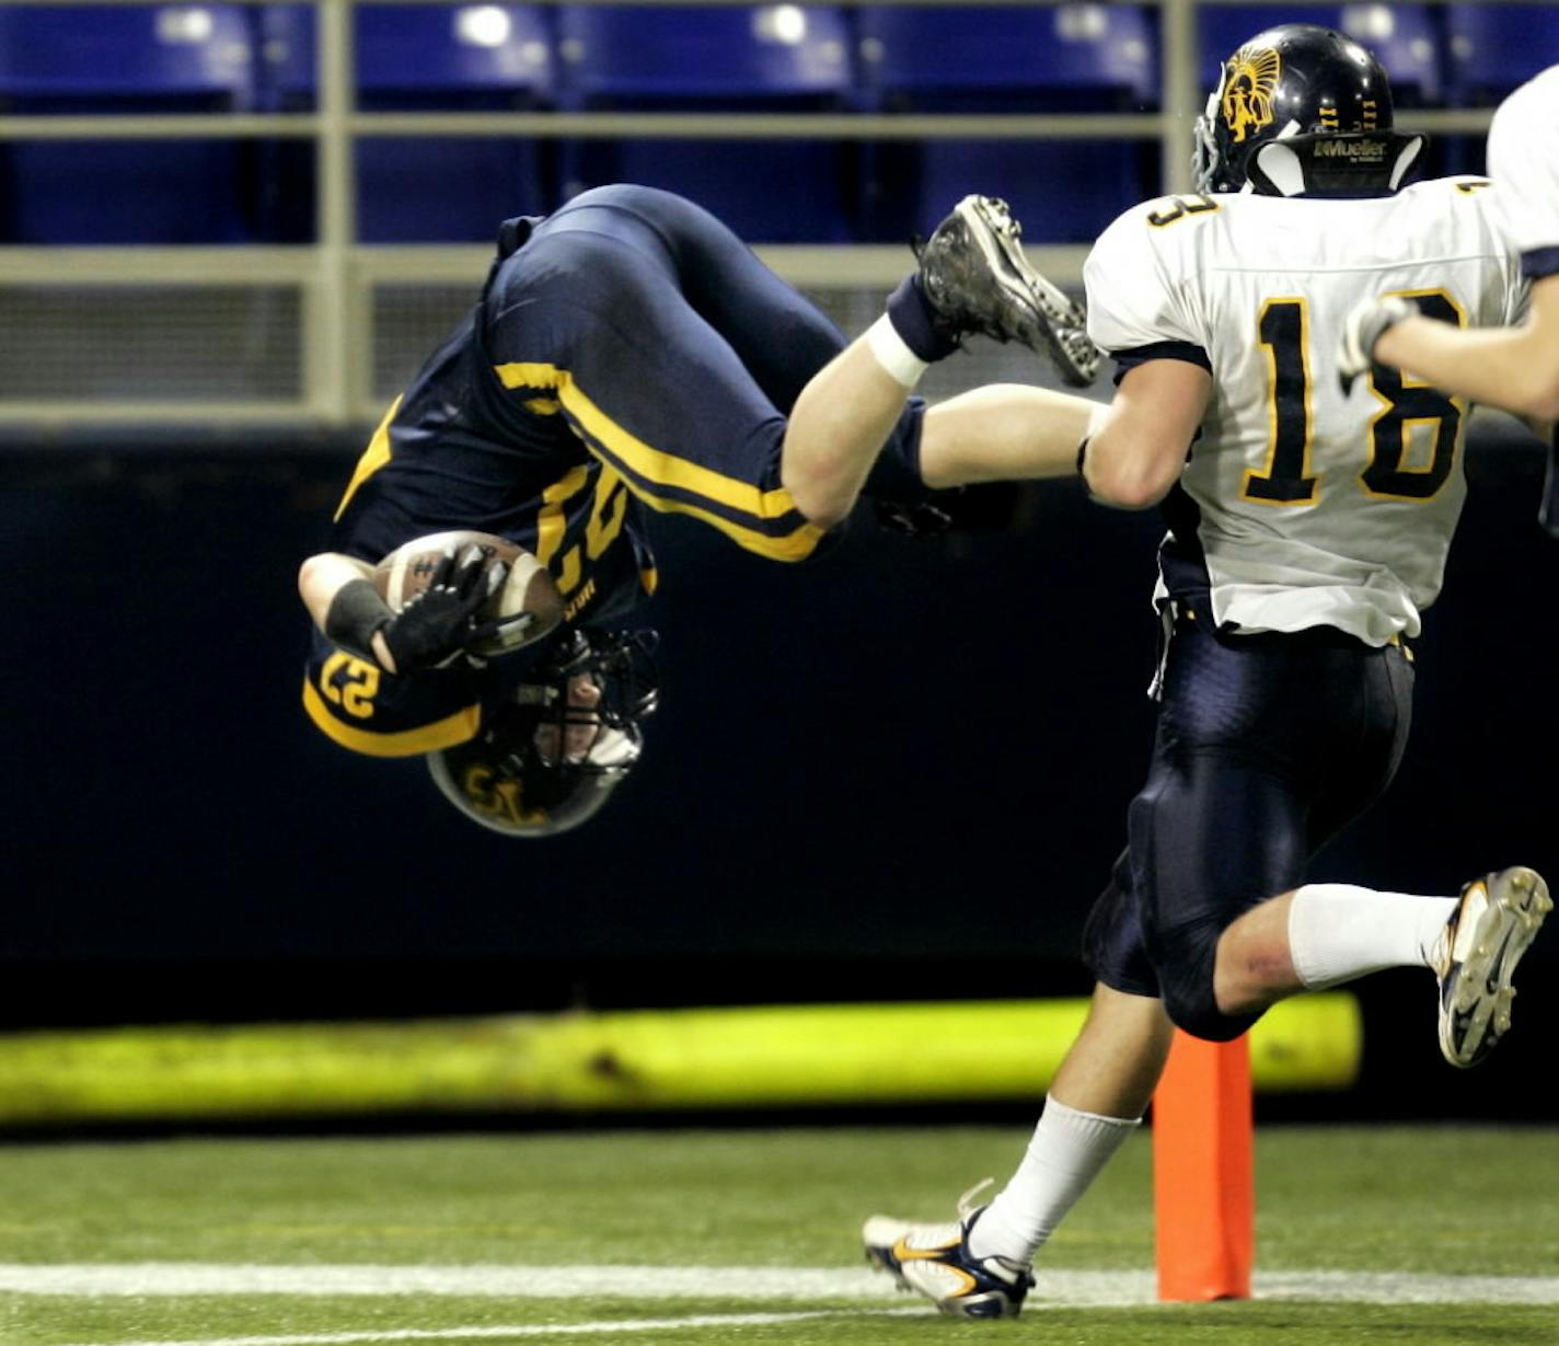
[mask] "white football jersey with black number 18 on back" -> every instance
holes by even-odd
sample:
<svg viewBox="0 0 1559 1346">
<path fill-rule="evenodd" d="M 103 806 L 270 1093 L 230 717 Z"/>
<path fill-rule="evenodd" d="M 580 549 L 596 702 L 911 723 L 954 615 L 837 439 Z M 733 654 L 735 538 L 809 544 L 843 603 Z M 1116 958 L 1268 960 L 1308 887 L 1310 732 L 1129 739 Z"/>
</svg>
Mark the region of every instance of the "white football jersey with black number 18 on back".
<svg viewBox="0 0 1559 1346">
<path fill-rule="evenodd" d="M 1180 479 L 1191 508 L 1177 498 L 1171 521 L 1219 624 L 1417 635 L 1465 496 L 1467 406 L 1391 370 L 1344 395 L 1335 349 L 1369 295 L 1467 326 L 1517 318 L 1492 198 L 1473 178 L 1359 201 L 1166 197 L 1099 237 L 1094 342 L 1122 365 L 1205 356 L 1213 374 Z"/>
</svg>

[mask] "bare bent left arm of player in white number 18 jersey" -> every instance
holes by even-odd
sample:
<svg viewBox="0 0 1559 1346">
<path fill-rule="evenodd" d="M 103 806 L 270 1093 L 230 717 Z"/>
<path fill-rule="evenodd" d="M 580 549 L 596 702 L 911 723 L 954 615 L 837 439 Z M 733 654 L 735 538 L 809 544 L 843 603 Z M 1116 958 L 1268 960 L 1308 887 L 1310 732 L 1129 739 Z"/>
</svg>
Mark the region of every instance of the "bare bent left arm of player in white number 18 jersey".
<svg viewBox="0 0 1559 1346">
<path fill-rule="evenodd" d="M 1127 370 L 1082 460 L 1093 498 L 1121 510 L 1157 505 L 1180 479 L 1211 395 L 1211 374 L 1188 360 Z"/>
</svg>

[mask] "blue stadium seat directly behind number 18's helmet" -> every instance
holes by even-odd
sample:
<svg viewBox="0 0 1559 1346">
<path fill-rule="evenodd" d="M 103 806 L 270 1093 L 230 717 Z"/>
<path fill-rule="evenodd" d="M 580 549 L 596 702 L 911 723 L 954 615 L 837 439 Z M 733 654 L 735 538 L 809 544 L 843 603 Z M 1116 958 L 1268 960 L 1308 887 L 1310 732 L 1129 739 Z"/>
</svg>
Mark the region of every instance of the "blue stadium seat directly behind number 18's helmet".
<svg viewBox="0 0 1559 1346">
<path fill-rule="evenodd" d="M 1319 23 L 1361 42 L 1391 76 L 1398 108 L 1425 108 L 1445 97 L 1441 34 L 1430 5 L 1204 5 L 1197 11 L 1200 86 L 1218 83 L 1219 66 L 1249 37 L 1277 23 Z"/>
</svg>

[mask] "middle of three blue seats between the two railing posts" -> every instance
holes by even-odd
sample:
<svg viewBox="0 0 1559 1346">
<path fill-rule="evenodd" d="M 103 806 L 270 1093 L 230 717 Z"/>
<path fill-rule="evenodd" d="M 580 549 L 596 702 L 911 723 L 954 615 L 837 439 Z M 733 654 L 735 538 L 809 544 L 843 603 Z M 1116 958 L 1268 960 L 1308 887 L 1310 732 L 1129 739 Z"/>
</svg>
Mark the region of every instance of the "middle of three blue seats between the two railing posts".
<svg viewBox="0 0 1559 1346">
<path fill-rule="evenodd" d="M 563 5 L 560 98 L 574 111 L 847 111 L 836 6 Z M 836 140 L 580 139 L 564 195 L 610 181 L 681 192 L 751 242 L 853 237 L 857 147 Z"/>
</svg>

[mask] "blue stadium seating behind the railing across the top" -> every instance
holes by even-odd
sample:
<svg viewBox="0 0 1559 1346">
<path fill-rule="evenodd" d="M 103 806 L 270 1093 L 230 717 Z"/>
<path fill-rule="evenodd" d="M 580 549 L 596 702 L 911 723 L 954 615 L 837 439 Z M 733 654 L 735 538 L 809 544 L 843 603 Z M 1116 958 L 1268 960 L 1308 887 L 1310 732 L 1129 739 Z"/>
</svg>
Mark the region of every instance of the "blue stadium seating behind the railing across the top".
<svg viewBox="0 0 1559 1346">
<path fill-rule="evenodd" d="M 0 5 L 0 111 L 223 112 L 316 106 L 313 3 Z M 1275 22 L 1369 45 L 1397 103 L 1492 106 L 1559 62 L 1543 5 L 1199 5 L 1197 75 Z M 354 6 L 365 111 L 1151 111 L 1154 5 Z M 1481 136 L 1430 172 L 1481 168 Z M 1094 237 L 1158 190 L 1152 139 L 914 140 L 380 137 L 354 150 L 368 242 L 485 242 L 497 220 L 602 181 L 686 192 L 755 242 L 900 240 L 968 190 L 1002 195 L 1030 242 Z M 1475 162 L 1476 161 L 1476 162 Z M 307 136 L 0 142 L 0 242 L 301 242 Z M 104 209 L 111 201 L 112 209 Z"/>
</svg>

